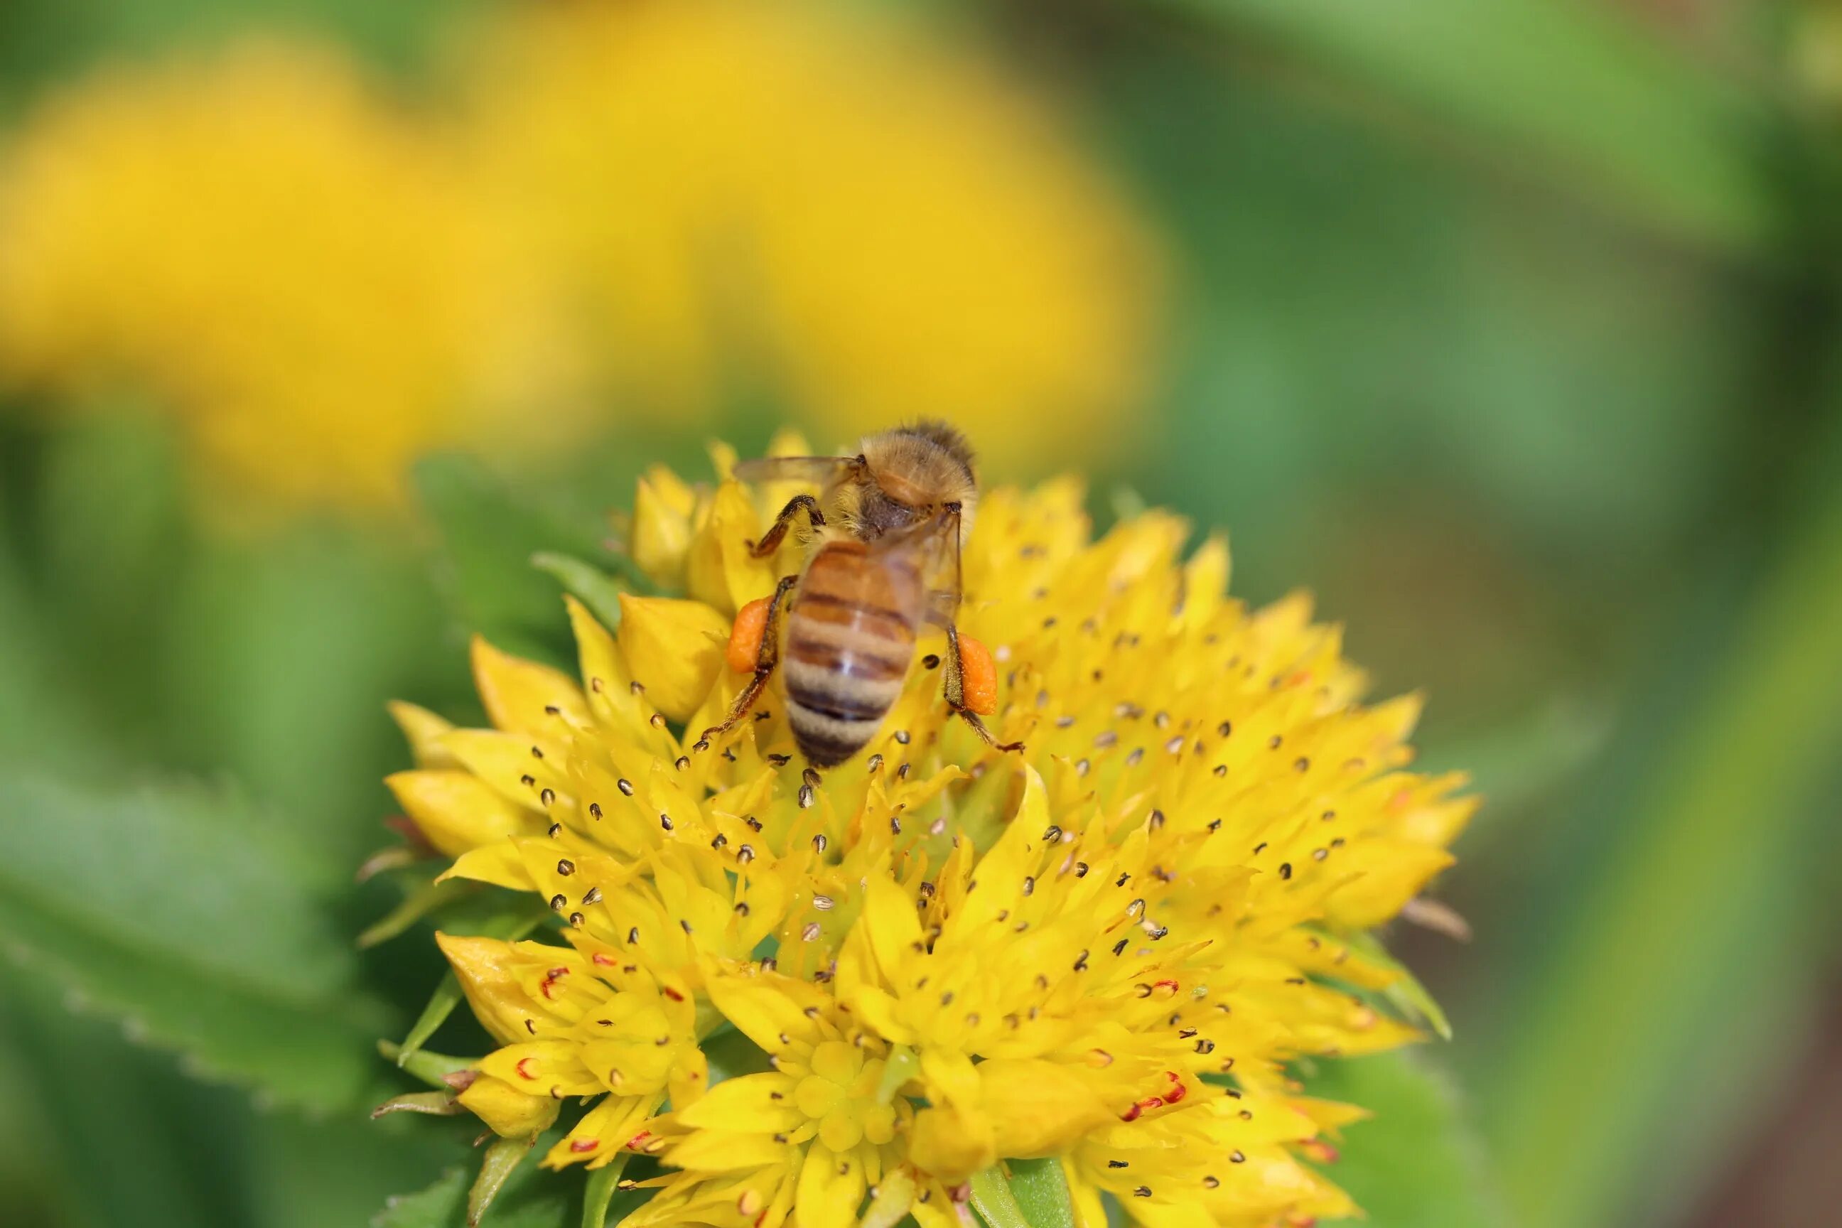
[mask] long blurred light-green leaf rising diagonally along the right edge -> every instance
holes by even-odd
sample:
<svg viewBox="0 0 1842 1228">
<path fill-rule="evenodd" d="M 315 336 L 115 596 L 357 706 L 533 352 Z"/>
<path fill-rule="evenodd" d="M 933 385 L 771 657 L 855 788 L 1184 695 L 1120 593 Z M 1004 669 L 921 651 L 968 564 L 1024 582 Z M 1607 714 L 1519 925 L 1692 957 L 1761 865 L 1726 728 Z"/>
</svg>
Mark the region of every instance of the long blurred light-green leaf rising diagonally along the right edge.
<svg viewBox="0 0 1842 1228">
<path fill-rule="evenodd" d="M 1654 1158 L 1711 1173 L 1829 983 L 1838 930 L 1814 863 L 1836 847 L 1842 497 L 1820 473 L 1825 503 L 1776 571 L 1634 709 L 1591 856 L 1529 902 L 1547 950 L 1490 983 L 1512 1024 L 1477 1086 L 1529 1228 L 1671 1222 L 1696 1182 L 1660 1187 Z"/>
</svg>

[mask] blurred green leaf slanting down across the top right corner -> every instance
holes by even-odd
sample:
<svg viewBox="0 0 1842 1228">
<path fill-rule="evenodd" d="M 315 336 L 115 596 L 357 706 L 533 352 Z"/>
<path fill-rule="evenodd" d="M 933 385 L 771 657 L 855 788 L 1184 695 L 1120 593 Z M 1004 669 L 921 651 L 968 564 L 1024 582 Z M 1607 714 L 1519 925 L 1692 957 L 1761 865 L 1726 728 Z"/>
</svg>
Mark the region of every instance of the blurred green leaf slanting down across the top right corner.
<svg viewBox="0 0 1842 1228">
<path fill-rule="evenodd" d="M 1779 243 L 1772 114 L 1737 81 L 1582 0 L 1175 0 L 1393 96 L 1527 175 L 1665 232 Z M 1529 169 L 1529 164 L 1538 164 Z"/>
</svg>

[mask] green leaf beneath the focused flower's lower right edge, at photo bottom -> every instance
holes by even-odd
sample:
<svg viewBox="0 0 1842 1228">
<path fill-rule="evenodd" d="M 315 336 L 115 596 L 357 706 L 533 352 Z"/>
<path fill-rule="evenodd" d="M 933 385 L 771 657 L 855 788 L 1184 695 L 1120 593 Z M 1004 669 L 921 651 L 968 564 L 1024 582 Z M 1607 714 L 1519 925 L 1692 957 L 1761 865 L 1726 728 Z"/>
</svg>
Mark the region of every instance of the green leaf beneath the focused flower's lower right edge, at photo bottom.
<svg viewBox="0 0 1842 1228">
<path fill-rule="evenodd" d="M 1347 1127 L 1341 1158 L 1326 1169 L 1367 1228 L 1496 1228 L 1501 1202 L 1485 1153 L 1450 1079 L 1420 1053 L 1321 1060 L 1312 1095 L 1374 1114 Z M 1328 1228 L 1328 1226 L 1326 1226 Z"/>
</svg>

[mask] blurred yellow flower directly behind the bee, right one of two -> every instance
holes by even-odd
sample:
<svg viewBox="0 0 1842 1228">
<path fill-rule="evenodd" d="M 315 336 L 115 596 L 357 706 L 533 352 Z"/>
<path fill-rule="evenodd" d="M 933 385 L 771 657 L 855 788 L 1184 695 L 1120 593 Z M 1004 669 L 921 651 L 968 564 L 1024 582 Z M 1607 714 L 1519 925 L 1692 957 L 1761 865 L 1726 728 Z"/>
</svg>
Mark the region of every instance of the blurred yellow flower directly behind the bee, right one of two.
<svg viewBox="0 0 1842 1228">
<path fill-rule="evenodd" d="M 825 442 L 945 416 L 1039 466 L 1140 407 L 1153 245 L 982 64 L 810 4 L 663 0 L 521 6 L 468 70 L 475 173 L 623 403 L 764 387 Z"/>
</svg>

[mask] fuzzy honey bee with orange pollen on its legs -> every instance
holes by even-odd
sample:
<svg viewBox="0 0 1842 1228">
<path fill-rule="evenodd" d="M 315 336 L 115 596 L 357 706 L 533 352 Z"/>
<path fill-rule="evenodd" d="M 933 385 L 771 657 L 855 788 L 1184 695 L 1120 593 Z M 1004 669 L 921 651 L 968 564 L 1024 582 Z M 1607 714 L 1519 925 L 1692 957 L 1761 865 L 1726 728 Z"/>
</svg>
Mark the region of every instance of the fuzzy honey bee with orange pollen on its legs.
<svg viewBox="0 0 1842 1228">
<path fill-rule="evenodd" d="M 962 644 L 956 615 L 960 547 L 978 482 L 965 436 L 943 422 L 917 422 L 866 436 L 855 457 L 768 457 L 739 464 L 735 475 L 812 482 L 820 495 L 794 495 L 750 547 L 755 558 L 774 554 L 801 516 L 812 528 L 805 567 L 766 598 L 753 678 L 724 722 L 704 731 L 705 742 L 742 720 L 779 670 L 799 753 L 814 768 L 842 764 L 882 725 L 903 692 L 921 626 L 932 622 L 947 631 L 949 707 L 987 746 L 1022 749 L 997 742 L 967 701 L 962 650 L 971 641 Z M 740 637 L 761 617 L 755 606 L 737 617 L 731 650 L 748 652 Z"/>
</svg>

